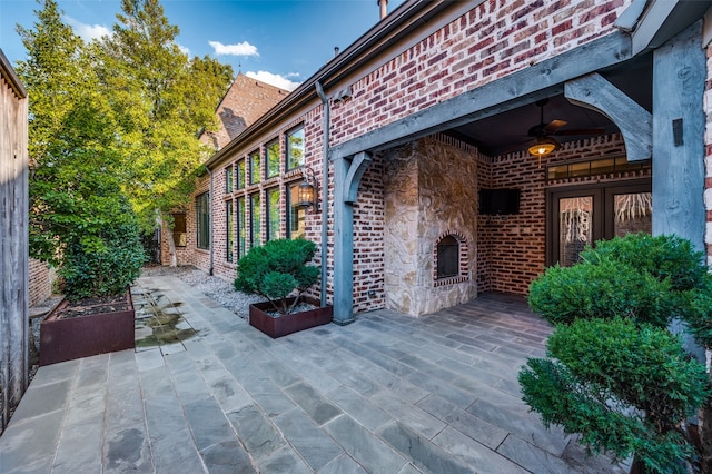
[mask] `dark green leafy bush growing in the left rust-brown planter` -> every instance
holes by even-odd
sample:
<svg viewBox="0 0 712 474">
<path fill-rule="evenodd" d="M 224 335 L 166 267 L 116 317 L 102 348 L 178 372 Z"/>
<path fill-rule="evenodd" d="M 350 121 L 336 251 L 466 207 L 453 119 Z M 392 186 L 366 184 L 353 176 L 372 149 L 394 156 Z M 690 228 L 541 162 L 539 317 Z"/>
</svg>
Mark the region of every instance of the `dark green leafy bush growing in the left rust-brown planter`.
<svg viewBox="0 0 712 474">
<path fill-rule="evenodd" d="M 138 223 L 128 201 L 117 207 L 120 217 L 106 224 L 98 243 L 77 239 L 67 246 L 59 273 L 68 299 L 122 294 L 140 276 L 146 257 Z"/>
</svg>

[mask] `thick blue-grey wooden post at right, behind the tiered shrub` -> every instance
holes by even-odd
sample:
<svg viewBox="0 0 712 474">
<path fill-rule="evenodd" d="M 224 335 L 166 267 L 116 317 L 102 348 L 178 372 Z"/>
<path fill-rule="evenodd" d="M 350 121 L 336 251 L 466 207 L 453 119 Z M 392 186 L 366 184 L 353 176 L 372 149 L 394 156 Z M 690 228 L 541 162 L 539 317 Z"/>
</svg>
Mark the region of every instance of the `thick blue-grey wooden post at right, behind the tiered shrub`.
<svg viewBox="0 0 712 474">
<path fill-rule="evenodd" d="M 653 53 L 653 235 L 704 251 L 705 52 L 698 21 Z"/>
</svg>

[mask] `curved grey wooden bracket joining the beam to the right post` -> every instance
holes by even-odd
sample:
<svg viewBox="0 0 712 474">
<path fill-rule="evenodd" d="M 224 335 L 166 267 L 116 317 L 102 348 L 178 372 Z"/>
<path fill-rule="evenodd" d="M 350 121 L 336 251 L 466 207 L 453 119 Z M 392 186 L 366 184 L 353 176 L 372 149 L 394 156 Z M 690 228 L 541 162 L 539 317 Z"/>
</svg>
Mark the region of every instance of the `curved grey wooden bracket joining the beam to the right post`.
<svg viewBox="0 0 712 474">
<path fill-rule="evenodd" d="M 571 103 L 603 113 L 621 130 L 629 161 L 650 159 L 653 152 L 653 116 L 597 72 L 564 85 Z"/>
</svg>

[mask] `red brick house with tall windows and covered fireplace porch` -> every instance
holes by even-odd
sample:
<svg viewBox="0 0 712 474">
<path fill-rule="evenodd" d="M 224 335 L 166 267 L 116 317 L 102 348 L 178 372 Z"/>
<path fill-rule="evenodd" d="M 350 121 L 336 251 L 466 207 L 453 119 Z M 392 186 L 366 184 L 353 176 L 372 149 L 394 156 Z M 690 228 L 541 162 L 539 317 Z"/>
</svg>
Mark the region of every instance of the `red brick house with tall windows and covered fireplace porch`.
<svg viewBox="0 0 712 474">
<path fill-rule="evenodd" d="M 712 258 L 711 4 L 408 0 L 207 161 L 181 263 L 231 279 L 304 235 L 348 324 L 525 294 L 630 230 Z"/>
</svg>

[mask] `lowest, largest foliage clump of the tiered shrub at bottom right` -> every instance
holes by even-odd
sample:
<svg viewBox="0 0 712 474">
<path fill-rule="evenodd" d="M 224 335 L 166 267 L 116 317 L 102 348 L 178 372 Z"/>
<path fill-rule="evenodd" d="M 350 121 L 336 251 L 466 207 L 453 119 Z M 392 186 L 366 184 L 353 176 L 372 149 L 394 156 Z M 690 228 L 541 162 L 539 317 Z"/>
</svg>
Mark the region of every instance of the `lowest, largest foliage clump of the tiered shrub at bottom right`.
<svg viewBox="0 0 712 474">
<path fill-rule="evenodd" d="M 630 319 L 576 319 L 556 327 L 552 359 L 520 373 L 523 399 L 595 452 L 635 454 L 653 472 L 684 472 L 693 454 L 679 431 L 710 395 L 704 366 L 670 332 Z"/>
</svg>

